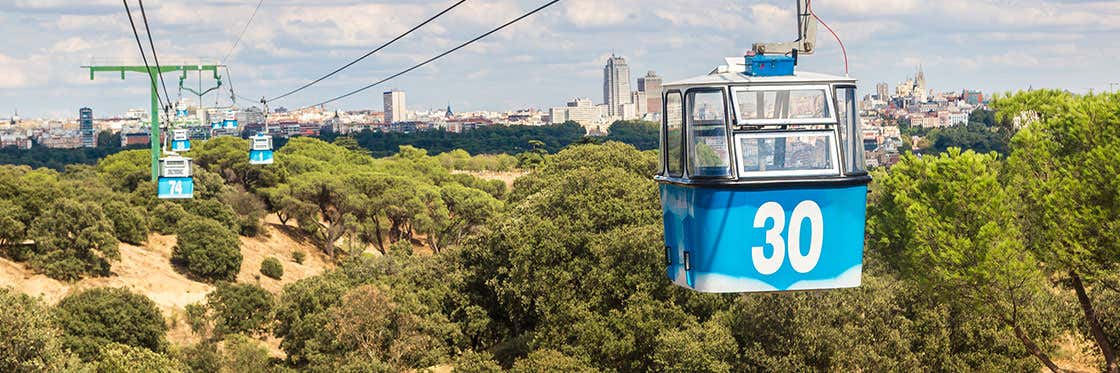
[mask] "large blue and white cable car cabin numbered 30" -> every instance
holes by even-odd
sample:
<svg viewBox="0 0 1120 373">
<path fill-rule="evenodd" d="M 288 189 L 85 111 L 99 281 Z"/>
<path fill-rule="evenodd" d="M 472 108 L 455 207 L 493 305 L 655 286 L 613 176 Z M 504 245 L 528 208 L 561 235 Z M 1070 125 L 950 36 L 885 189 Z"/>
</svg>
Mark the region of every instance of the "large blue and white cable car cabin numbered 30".
<svg viewBox="0 0 1120 373">
<path fill-rule="evenodd" d="M 663 88 L 666 274 L 704 292 L 858 287 L 870 177 L 856 81 L 738 67 Z"/>
</svg>

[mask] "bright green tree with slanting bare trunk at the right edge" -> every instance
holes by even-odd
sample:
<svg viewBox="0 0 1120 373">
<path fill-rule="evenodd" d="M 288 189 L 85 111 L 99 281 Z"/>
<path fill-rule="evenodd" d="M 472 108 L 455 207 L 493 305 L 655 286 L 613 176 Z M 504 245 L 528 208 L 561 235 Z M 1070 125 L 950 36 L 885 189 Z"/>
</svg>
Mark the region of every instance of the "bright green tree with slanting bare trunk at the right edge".
<svg viewBox="0 0 1120 373">
<path fill-rule="evenodd" d="M 1065 279 L 1107 372 L 1120 372 L 1089 290 L 1120 271 L 1120 95 L 1032 91 L 997 97 L 1011 141 L 1008 181 L 1019 198 L 1027 248 Z"/>
</svg>

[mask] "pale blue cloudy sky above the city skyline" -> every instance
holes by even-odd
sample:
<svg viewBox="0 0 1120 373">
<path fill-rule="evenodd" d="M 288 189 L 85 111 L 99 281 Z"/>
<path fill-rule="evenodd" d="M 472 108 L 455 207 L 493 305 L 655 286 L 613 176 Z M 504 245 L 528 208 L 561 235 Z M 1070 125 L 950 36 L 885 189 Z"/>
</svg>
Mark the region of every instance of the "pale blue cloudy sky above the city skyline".
<svg viewBox="0 0 1120 373">
<path fill-rule="evenodd" d="M 137 1 L 129 1 L 139 22 Z M 264 0 L 244 37 L 234 39 L 258 0 L 148 0 L 144 7 L 164 64 L 228 65 L 244 97 L 274 96 L 375 48 L 454 0 Z M 506 22 L 545 0 L 467 0 L 438 20 L 335 77 L 270 106 L 300 108 L 410 67 Z M 1120 86 L 1120 1 L 818 0 L 813 9 L 848 48 L 864 93 L 892 90 L 918 66 L 937 91 L 986 94 L 1029 87 L 1101 92 Z M 794 0 L 562 0 L 444 59 L 330 109 L 382 108 L 381 93 L 408 94 L 410 110 L 547 109 L 573 97 L 603 100 L 603 66 L 627 59 L 632 84 L 646 71 L 666 81 L 702 75 L 757 41 L 795 37 Z M 143 30 L 141 27 L 141 37 Z M 0 118 L 96 116 L 148 108 L 144 77 L 97 75 L 91 63 L 140 64 L 124 7 L 115 0 L 0 2 Z M 147 39 L 144 39 L 147 47 Z M 150 57 L 149 57 L 150 58 Z M 799 68 L 843 74 L 839 44 L 823 27 L 818 53 Z M 222 72 L 226 75 L 226 72 Z M 169 94 L 178 78 L 165 75 Z M 187 82 L 198 85 L 197 75 Z M 203 82 L 213 84 L 207 77 Z M 205 87 L 205 86 L 204 86 Z M 634 85 L 636 90 L 636 85 Z M 190 93 L 183 91 L 184 96 Z M 246 104 L 239 100 L 240 105 Z"/>
</svg>

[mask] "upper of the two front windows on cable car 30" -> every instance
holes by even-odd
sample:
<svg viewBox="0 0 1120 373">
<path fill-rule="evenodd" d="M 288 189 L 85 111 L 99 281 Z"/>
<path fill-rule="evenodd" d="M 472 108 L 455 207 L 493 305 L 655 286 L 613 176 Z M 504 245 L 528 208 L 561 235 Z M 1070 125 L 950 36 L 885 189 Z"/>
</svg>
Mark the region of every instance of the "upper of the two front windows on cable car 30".
<svg viewBox="0 0 1120 373">
<path fill-rule="evenodd" d="M 797 124 L 834 121 L 824 86 L 753 86 L 734 90 L 739 124 Z"/>
</svg>

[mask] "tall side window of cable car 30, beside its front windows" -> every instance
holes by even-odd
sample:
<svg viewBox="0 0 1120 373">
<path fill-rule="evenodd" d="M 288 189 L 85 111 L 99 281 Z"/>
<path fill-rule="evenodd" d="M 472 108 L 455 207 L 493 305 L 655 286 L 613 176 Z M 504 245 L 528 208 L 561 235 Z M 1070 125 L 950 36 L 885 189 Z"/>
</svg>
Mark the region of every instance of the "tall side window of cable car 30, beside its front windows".
<svg viewBox="0 0 1120 373">
<path fill-rule="evenodd" d="M 689 176 L 727 177 L 731 161 L 727 144 L 724 91 L 692 91 L 689 103 Z"/>
</svg>

